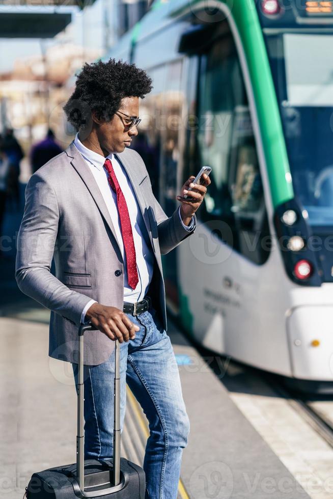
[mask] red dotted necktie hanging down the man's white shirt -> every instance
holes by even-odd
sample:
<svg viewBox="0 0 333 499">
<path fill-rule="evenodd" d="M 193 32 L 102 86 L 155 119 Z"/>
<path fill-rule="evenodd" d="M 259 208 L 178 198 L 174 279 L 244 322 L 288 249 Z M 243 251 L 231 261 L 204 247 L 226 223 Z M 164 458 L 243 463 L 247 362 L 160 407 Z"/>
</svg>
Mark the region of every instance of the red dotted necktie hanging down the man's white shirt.
<svg viewBox="0 0 333 499">
<path fill-rule="evenodd" d="M 111 188 L 117 193 L 117 206 L 120 216 L 121 232 L 123 236 L 123 243 L 127 260 L 128 284 L 132 289 L 135 289 L 138 283 L 135 246 L 125 196 L 123 195 L 123 192 L 118 183 L 112 166 L 112 162 L 109 159 L 105 159 L 104 167 L 108 173 L 108 183 L 110 184 Z"/>
</svg>

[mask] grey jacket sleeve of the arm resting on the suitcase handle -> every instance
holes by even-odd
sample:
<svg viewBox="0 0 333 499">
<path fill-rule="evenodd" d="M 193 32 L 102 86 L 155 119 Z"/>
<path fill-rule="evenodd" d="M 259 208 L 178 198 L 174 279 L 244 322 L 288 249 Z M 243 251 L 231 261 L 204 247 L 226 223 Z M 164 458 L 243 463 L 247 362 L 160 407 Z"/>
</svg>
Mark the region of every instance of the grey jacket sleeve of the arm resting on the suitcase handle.
<svg viewBox="0 0 333 499">
<path fill-rule="evenodd" d="M 50 272 L 59 219 L 56 193 L 36 172 L 25 188 L 15 278 L 22 293 L 79 325 L 82 310 L 91 298 L 72 291 Z"/>
</svg>

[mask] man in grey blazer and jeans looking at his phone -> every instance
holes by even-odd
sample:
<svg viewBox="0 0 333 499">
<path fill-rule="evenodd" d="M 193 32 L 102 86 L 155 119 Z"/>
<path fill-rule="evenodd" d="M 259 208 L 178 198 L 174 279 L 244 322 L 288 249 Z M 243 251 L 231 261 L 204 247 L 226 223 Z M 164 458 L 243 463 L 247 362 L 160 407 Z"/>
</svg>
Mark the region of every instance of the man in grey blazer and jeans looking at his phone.
<svg viewBox="0 0 333 499">
<path fill-rule="evenodd" d="M 64 107 L 75 140 L 26 186 L 16 279 L 51 309 L 49 355 L 72 363 L 76 383 L 79 324 L 97 328 L 85 335 L 85 459 L 113 455 L 118 338 L 121 429 L 127 382 L 150 426 L 146 497 L 175 499 L 189 421 L 166 334 L 161 254 L 195 231 L 209 179 L 191 191 L 192 201 L 177 196 L 181 206 L 165 215 L 144 162 L 129 149 L 140 121 L 138 98 L 151 88 L 134 64 L 85 64 Z"/>
</svg>

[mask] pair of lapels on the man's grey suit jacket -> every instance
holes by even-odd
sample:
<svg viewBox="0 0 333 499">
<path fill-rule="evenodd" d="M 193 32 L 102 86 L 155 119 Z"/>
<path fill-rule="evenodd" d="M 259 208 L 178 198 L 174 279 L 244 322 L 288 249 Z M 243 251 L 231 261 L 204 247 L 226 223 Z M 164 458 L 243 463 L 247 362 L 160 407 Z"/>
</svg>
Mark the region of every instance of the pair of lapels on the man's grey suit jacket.
<svg viewBox="0 0 333 499">
<path fill-rule="evenodd" d="M 106 224 L 108 225 L 111 232 L 113 233 L 113 235 L 115 237 L 115 241 L 116 241 L 117 246 L 119 248 L 119 253 L 121 255 L 121 250 L 120 250 L 120 246 L 118 243 L 115 227 L 113 225 L 112 219 L 111 219 L 110 214 L 108 212 L 104 198 L 101 194 L 101 191 L 99 190 L 99 187 L 97 185 L 97 182 L 96 182 L 93 174 L 91 173 L 90 169 L 87 168 L 86 161 L 84 160 L 84 158 L 82 158 L 81 154 L 76 149 L 76 147 L 74 145 L 74 141 L 66 149 L 66 154 L 67 154 L 67 156 L 69 156 L 69 158 L 71 158 L 72 166 L 75 168 L 78 175 L 81 177 L 81 179 L 86 184 L 89 192 L 91 193 L 91 196 L 93 197 L 93 199 L 97 205 L 97 208 L 99 209 L 101 215 L 103 216 L 104 220 L 106 221 Z M 140 187 L 140 184 L 143 182 L 143 180 L 146 178 L 147 175 L 142 176 L 141 169 L 133 168 L 133 164 L 132 164 L 133 158 L 130 159 L 128 157 L 128 152 L 126 151 L 126 149 L 124 152 L 122 152 L 120 154 L 115 154 L 115 156 L 122 163 L 128 177 L 130 179 L 133 190 L 135 192 L 137 203 L 140 207 L 141 213 L 142 213 L 144 221 L 145 221 L 145 225 L 146 225 L 146 228 L 147 228 L 147 231 L 149 234 L 149 238 L 152 241 L 151 227 L 150 227 L 150 221 L 149 221 L 149 217 L 148 217 L 147 207 L 146 207 L 143 192 L 142 192 L 141 187 Z"/>
</svg>

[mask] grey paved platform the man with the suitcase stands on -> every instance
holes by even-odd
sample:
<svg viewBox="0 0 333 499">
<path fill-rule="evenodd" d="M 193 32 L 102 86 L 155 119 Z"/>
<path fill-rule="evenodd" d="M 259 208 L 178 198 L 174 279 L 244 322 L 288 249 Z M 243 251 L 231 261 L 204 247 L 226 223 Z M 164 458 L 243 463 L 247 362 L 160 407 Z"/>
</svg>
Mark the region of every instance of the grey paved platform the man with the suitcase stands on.
<svg viewBox="0 0 333 499">
<path fill-rule="evenodd" d="M 5 312 L 0 318 L 0 497 L 21 499 L 33 472 L 75 462 L 76 393 L 70 365 L 47 356 L 49 311 Z M 178 497 L 310 497 L 171 319 L 168 334 L 191 424 Z M 142 464 L 147 436 L 145 415 L 128 390 L 122 455 Z"/>
</svg>

